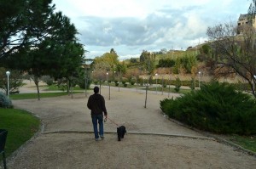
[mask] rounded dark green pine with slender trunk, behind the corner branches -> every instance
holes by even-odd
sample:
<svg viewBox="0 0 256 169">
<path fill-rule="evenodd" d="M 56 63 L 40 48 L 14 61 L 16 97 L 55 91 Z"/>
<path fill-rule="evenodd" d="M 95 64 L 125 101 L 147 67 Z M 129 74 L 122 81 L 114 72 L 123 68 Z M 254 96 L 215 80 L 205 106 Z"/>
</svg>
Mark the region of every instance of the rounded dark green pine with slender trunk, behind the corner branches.
<svg viewBox="0 0 256 169">
<path fill-rule="evenodd" d="M 78 32 L 75 26 L 61 12 L 51 14 L 43 27 L 47 30 L 47 37 L 41 42 L 35 43 L 33 48 L 19 48 L 4 59 L 9 67 L 24 70 L 32 76 L 38 88 L 38 99 L 40 76 L 65 77 L 69 83 L 74 75 L 78 75 L 84 55 L 83 45 L 76 42 Z M 43 27 L 38 27 L 38 30 Z"/>
</svg>

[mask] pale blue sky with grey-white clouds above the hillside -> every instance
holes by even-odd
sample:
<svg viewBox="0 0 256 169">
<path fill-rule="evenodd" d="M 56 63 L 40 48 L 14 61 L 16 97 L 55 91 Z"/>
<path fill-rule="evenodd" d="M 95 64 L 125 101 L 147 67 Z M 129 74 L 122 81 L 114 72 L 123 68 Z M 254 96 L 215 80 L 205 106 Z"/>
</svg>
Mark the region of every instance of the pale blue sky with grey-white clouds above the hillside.
<svg viewBox="0 0 256 169">
<path fill-rule="evenodd" d="M 207 40 L 207 27 L 236 23 L 252 0 L 53 0 L 79 31 L 86 57 L 113 48 L 119 59 L 143 50 L 183 49 Z"/>
</svg>

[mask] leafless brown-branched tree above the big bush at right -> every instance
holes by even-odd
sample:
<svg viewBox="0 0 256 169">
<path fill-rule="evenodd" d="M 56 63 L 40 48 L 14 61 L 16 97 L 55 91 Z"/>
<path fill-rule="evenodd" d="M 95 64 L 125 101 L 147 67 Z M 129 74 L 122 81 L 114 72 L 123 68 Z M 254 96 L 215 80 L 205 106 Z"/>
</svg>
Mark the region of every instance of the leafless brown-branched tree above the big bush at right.
<svg viewBox="0 0 256 169">
<path fill-rule="evenodd" d="M 216 25 L 207 29 L 211 40 L 212 53 L 216 68 L 226 69 L 222 74 L 236 73 L 243 77 L 252 89 L 256 98 L 256 43 L 253 26 L 244 27 L 241 35 L 237 35 L 237 26 L 231 23 Z"/>
</svg>

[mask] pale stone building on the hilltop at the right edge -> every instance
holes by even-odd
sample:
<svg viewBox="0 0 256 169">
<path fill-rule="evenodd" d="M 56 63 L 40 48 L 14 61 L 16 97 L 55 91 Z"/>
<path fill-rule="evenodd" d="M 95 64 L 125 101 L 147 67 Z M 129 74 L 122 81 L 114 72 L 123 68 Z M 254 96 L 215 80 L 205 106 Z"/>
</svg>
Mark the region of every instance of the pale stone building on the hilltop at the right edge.
<svg viewBox="0 0 256 169">
<path fill-rule="evenodd" d="M 237 20 L 237 26 L 238 26 L 238 34 L 242 33 L 243 27 L 246 25 L 251 25 L 254 28 L 256 28 L 256 22 L 255 22 L 256 16 L 254 16 L 252 19 L 249 19 L 248 14 L 240 14 L 238 20 Z"/>
</svg>

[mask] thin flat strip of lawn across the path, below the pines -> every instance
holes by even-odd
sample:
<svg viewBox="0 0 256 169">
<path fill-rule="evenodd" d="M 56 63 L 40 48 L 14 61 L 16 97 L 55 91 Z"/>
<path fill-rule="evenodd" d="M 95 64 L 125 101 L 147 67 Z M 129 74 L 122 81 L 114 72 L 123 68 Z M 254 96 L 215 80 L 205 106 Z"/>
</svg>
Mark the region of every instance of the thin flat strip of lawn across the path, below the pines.
<svg viewBox="0 0 256 169">
<path fill-rule="evenodd" d="M 73 92 L 80 93 L 80 92 Z M 52 98 L 58 96 L 65 96 L 67 92 L 57 92 L 57 93 L 40 93 L 40 98 Z M 38 93 L 20 93 L 20 94 L 10 94 L 10 99 L 38 99 Z"/>
</svg>

